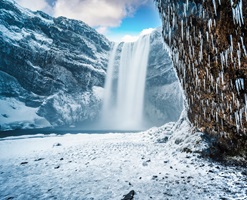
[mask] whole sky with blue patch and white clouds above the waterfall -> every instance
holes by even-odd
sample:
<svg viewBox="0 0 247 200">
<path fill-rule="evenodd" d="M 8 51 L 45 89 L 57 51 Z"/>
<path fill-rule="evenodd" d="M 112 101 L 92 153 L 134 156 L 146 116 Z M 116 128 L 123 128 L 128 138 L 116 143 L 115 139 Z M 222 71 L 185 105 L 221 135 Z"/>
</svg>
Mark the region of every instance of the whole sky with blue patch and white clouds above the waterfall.
<svg viewBox="0 0 247 200">
<path fill-rule="evenodd" d="M 153 0 L 15 0 L 31 10 L 42 10 L 54 17 L 82 20 L 119 41 L 137 36 L 143 29 L 161 26 Z"/>
</svg>

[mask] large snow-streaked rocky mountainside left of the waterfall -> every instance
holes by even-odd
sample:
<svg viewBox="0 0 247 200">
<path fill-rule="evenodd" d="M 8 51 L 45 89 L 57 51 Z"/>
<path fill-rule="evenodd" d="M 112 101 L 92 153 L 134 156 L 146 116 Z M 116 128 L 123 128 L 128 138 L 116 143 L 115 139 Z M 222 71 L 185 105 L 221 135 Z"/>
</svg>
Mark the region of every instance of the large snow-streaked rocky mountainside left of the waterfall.
<svg viewBox="0 0 247 200">
<path fill-rule="evenodd" d="M 98 114 L 111 43 L 93 28 L 2 0 L 0 49 L 0 130 Z"/>
</svg>

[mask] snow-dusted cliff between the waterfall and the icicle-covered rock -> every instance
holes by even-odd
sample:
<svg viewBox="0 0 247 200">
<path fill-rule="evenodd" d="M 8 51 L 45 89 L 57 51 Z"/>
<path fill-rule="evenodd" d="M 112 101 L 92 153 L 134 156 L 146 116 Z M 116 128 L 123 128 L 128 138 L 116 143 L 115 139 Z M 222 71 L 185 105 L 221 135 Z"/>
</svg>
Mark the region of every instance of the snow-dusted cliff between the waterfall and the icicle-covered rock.
<svg viewBox="0 0 247 200">
<path fill-rule="evenodd" d="M 144 105 L 148 120 L 157 126 L 177 121 L 183 110 L 182 90 L 162 40 L 161 28 L 151 33 Z"/>
</svg>

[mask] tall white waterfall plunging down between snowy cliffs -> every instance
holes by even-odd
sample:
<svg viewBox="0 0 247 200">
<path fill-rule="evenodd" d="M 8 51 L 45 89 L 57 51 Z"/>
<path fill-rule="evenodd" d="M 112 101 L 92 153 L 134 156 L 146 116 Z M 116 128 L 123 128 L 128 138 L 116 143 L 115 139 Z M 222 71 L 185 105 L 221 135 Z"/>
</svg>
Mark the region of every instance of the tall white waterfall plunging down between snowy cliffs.
<svg viewBox="0 0 247 200">
<path fill-rule="evenodd" d="M 144 128 L 143 106 L 150 34 L 115 44 L 105 82 L 102 124 L 108 129 Z M 119 59 L 120 57 L 120 59 Z"/>
</svg>

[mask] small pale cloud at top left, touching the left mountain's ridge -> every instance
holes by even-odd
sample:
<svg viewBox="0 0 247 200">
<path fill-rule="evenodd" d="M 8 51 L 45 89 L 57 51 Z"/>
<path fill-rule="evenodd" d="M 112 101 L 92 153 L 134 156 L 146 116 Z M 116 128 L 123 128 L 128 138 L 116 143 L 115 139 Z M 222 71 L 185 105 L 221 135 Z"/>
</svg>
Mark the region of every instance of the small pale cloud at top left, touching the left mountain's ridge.
<svg viewBox="0 0 247 200">
<path fill-rule="evenodd" d="M 15 0 L 19 5 L 24 8 L 29 8 L 30 10 L 42 10 L 50 15 L 52 15 L 52 7 L 45 0 Z"/>
</svg>

